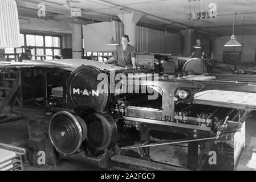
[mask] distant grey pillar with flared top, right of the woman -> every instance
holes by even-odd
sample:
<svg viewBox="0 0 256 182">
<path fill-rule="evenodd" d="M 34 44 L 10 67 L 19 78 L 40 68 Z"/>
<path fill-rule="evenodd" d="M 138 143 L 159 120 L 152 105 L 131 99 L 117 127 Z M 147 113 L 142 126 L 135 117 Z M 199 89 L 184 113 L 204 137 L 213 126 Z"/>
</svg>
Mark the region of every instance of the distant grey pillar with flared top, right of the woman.
<svg viewBox="0 0 256 182">
<path fill-rule="evenodd" d="M 194 32 L 193 29 L 180 30 L 183 36 L 183 51 L 182 56 L 189 57 L 191 55 L 191 36 Z"/>
</svg>

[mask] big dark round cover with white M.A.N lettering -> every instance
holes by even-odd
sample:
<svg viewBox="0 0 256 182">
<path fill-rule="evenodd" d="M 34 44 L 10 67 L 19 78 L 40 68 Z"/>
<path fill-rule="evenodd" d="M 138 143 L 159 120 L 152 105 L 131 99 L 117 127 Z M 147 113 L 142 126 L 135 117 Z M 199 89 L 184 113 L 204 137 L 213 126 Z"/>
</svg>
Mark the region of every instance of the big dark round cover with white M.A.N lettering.
<svg viewBox="0 0 256 182">
<path fill-rule="evenodd" d="M 82 117 L 88 113 L 103 112 L 109 103 L 109 92 L 101 93 L 97 90 L 101 81 L 109 87 L 107 79 L 97 80 L 100 73 L 96 67 L 82 65 L 68 77 L 68 104 Z"/>
</svg>

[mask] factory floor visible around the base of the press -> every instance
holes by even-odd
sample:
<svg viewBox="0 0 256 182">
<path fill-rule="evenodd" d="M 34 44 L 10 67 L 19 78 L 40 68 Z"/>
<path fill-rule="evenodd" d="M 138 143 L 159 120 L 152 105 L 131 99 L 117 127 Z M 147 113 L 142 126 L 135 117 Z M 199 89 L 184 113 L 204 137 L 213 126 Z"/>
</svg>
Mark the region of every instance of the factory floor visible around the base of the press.
<svg viewBox="0 0 256 182">
<path fill-rule="evenodd" d="M 6 108 L 4 113 L 9 113 L 10 108 Z M 24 109 L 25 115 L 35 116 L 42 115 L 42 110 L 39 109 Z M 254 171 L 255 169 L 247 167 L 247 163 L 251 159 L 252 148 L 256 147 L 256 112 L 252 113 L 252 117 L 247 118 L 246 120 L 246 147 L 243 150 L 241 159 L 239 161 L 237 170 L 239 171 Z M 0 125 L 0 143 L 11 144 L 13 146 L 19 146 L 26 148 L 28 146 L 27 139 L 29 139 L 29 131 L 27 127 L 27 119 L 21 119 L 18 121 L 5 123 Z M 168 147 L 168 146 L 166 146 Z M 167 150 L 166 150 L 167 151 Z M 85 166 L 84 164 L 70 162 L 62 160 L 58 167 L 43 166 L 41 168 L 32 167 L 29 164 L 24 165 L 25 170 L 27 171 L 39 171 L 39 170 L 102 170 L 100 168 Z"/>
</svg>

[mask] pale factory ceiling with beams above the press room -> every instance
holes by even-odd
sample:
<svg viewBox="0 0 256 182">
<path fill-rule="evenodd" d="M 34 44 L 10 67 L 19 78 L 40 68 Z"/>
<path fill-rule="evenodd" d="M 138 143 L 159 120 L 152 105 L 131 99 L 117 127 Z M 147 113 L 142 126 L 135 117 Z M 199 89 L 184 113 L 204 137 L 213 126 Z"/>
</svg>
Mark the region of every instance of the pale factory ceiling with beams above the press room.
<svg viewBox="0 0 256 182">
<path fill-rule="evenodd" d="M 67 10 L 66 0 L 17 0 L 17 2 L 45 3 L 48 7 Z M 71 20 L 68 15 L 61 15 L 62 19 L 70 22 L 78 21 L 83 24 L 110 21 L 118 19 L 118 14 L 135 12 L 142 15 L 139 26 L 166 30 L 169 32 L 180 32 L 187 28 L 194 28 L 197 32 L 210 36 L 231 35 L 234 15 L 234 0 L 195 0 L 191 2 L 190 11 L 194 9 L 207 9 L 209 2 L 217 5 L 217 17 L 199 20 L 188 20 L 188 0 L 79 0 L 70 2 L 73 7 L 82 9 L 83 18 Z M 19 6 L 19 13 L 25 11 Z M 194 7 L 195 5 L 195 7 Z M 256 1 L 235 0 L 235 35 L 250 35 L 256 32 Z M 56 19 L 56 14 L 49 15 L 50 19 Z M 60 15 L 58 15 L 60 18 Z"/>
</svg>

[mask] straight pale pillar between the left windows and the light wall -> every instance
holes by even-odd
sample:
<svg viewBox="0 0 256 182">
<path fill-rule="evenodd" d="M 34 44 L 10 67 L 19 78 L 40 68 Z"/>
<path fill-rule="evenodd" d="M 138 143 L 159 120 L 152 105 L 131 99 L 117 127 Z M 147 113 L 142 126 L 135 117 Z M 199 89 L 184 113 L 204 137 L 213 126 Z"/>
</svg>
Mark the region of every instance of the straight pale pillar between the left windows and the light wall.
<svg viewBox="0 0 256 182">
<path fill-rule="evenodd" d="M 71 24 L 72 27 L 72 55 L 73 59 L 82 59 L 83 57 L 83 34 L 82 25 Z"/>
</svg>

